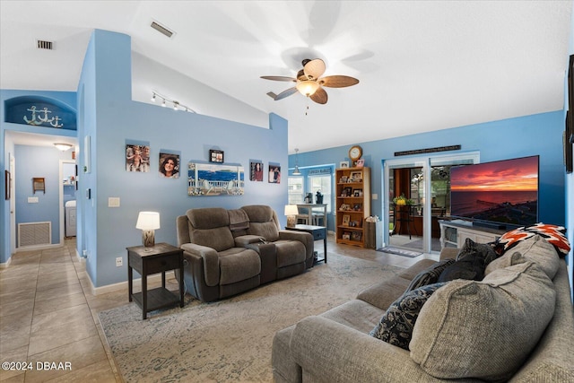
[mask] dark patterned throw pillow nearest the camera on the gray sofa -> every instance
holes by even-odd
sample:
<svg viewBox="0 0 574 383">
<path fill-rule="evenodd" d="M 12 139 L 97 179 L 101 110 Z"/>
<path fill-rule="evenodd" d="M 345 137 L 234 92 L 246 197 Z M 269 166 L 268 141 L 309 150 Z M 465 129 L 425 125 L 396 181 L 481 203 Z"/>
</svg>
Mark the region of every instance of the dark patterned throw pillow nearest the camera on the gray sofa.
<svg viewBox="0 0 574 383">
<path fill-rule="evenodd" d="M 378 325 L 370 331 L 370 335 L 408 350 L 414 323 L 419 316 L 422 305 L 431 297 L 433 292 L 445 284 L 433 283 L 404 293 L 402 297 L 388 307 Z"/>
</svg>

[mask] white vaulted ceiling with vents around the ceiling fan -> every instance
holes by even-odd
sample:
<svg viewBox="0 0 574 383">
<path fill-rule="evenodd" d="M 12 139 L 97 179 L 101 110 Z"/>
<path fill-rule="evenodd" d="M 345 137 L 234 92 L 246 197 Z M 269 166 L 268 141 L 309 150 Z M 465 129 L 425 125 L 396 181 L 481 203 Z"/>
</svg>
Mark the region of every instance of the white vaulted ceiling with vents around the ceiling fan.
<svg viewBox="0 0 574 383">
<path fill-rule="evenodd" d="M 138 54 L 287 118 L 290 152 L 309 152 L 562 109 L 571 9 L 571 1 L 1 0 L 0 88 L 76 91 L 91 30 L 123 32 Z M 55 50 L 36 49 L 36 39 Z M 326 89 L 326 105 L 265 94 L 291 84 L 259 76 L 293 76 L 316 57 L 326 75 L 361 83 Z M 191 96 L 180 99 L 193 108 Z"/>
</svg>

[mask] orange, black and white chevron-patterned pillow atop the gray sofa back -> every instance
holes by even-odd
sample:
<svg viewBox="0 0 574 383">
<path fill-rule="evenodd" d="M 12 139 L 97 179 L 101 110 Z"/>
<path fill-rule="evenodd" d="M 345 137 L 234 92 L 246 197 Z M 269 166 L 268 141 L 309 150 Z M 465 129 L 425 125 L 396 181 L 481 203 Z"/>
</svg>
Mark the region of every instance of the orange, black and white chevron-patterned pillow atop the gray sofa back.
<svg viewBox="0 0 574 383">
<path fill-rule="evenodd" d="M 536 223 L 528 227 L 521 227 L 513 231 L 508 231 L 502 235 L 497 241 L 495 248 L 500 254 L 504 254 L 509 248 L 517 245 L 518 242 L 524 239 L 529 239 L 535 234 L 540 235 L 542 238 L 550 242 L 556 252 L 561 257 L 565 257 L 570 251 L 570 242 L 566 238 L 566 229 L 562 226 L 551 224 Z"/>
</svg>

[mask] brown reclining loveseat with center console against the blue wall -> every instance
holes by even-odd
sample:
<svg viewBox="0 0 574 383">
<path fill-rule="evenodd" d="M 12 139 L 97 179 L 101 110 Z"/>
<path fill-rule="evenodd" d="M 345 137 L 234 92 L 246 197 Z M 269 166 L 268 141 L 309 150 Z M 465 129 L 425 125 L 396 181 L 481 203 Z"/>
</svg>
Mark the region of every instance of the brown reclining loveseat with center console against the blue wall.
<svg viewBox="0 0 574 383">
<path fill-rule="evenodd" d="M 270 206 L 189 209 L 176 223 L 187 292 L 198 300 L 230 297 L 313 266 L 313 237 L 280 230 Z"/>
</svg>

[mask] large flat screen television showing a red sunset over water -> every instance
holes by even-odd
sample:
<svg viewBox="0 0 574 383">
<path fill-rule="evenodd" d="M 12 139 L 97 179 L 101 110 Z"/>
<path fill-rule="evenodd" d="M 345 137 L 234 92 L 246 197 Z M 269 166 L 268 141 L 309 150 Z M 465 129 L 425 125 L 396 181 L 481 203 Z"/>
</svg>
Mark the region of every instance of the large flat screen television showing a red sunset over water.
<svg viewBox="0 0 574 383">
<path fill-rule="evenodd" d="M 514 229 L 538 222 L 538 156 L 450 169 L 450 215 Z"/>
</svg>

